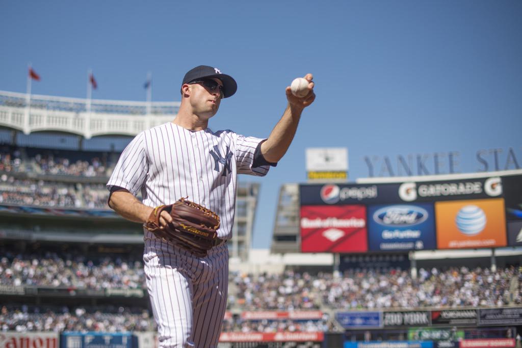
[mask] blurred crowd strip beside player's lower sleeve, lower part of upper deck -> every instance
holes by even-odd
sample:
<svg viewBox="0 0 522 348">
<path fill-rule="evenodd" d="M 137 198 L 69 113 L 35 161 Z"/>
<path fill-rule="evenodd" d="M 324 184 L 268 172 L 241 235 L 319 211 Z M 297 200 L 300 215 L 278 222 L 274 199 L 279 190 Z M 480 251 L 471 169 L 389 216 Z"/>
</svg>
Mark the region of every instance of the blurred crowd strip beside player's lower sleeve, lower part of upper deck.
<svg viewBox="0 0 522 348">
<path fill-rule="evenodd" d="M 108 198 L 103 184 L 46 182 L 0 174 L 0 203 L 4 204 L 109 209 Z"/>
</svg>

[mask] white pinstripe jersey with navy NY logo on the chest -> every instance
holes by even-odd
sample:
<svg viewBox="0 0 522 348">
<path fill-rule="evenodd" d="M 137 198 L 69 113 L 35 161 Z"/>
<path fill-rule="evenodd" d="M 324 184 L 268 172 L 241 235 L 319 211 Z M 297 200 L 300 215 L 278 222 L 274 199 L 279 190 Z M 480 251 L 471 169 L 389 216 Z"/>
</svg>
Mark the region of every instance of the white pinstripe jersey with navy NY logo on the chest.
<svg viewBox="0 0 522 348">
<path fill-rule="evenodd" d="M 141 190 L 149 207 L 169 205 L 181 197 L 215 211 L 218 237 L 229 239 L 235 213 L 237 174 L 264 176 L 269 166 L 252 167 L 254 152 L 264 139 L 231 130 L 192 131 L 174 123 L 145 130 L 123 150 L 107 183 Z M 146 238 L 154 238 L 146 231 Z"/>
</svg>

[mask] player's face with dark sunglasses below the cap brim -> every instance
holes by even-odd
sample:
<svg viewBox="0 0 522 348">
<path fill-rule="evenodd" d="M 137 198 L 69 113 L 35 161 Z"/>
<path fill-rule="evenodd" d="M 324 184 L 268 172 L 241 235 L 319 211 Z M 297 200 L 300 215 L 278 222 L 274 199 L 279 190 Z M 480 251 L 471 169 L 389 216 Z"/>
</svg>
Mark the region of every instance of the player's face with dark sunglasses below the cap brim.
<svg viewBox="0 0 522 348">
<path fill-rule="evenodd" d="M 218 79 L 203 79 L 190 83 L 191 105 L 199 117 L 210 118 L 218 112 L 221 103 L 222 83 Z"/>
</svg>

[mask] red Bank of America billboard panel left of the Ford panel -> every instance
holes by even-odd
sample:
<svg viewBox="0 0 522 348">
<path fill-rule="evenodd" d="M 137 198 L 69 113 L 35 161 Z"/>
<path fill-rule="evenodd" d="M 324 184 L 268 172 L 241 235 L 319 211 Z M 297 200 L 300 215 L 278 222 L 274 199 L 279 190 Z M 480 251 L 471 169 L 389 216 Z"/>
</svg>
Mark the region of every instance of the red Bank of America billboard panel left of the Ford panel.
<svg viewBox="0 0 522 348">
<path fill-rule="evenodd" d="M 366 238 L 363 205 L 301 207 L 303 253 L 362 253 Z"/>
</svg>

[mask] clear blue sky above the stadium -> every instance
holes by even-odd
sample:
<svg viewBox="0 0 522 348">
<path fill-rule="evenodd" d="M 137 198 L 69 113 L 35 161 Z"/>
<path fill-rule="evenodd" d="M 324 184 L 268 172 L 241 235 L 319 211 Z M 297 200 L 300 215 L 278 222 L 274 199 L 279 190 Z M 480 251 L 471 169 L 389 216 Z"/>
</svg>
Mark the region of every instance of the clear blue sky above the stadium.
<svg viewBox="0 0 522 348">
<path fill-rule="evenodd" d="M 145 100 L 151 71 L 153 100 L 179 101 L 185 72 L 212 65 L 239 90 L 210 127 L 267 137 L 284 88 L 314 74 L 317 99 L 286 157 L 253 178 L 254 247 L 269 247 L 279 186 L 305 181 L 307 147 L 347 147 L 351 179 L 370 175 L 366 156 L 457 151 L 458 170 L 476 172 L 478 150 L 502 149 L 503 169 L 512 148 L 522 165 L 520 18 L 519 0 L 3 0 L 0 89 L 25 92 L 31 62 L 35 94 L 85 98 L 92 68 L 94 99 Z"/>
</svg>

